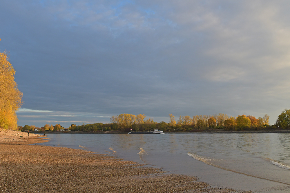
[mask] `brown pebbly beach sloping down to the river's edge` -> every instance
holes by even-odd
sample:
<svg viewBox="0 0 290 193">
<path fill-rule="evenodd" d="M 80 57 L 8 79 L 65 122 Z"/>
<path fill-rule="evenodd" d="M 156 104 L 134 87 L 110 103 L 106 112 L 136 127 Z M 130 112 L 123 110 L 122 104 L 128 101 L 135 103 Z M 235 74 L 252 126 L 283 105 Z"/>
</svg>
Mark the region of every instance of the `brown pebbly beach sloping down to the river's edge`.
<svg viewBox="0 0 290 193">
<path fill-rule="evenodd" d="M 0 192 L 251 192 L 212 188 L 197 177 L 111 155 L 29 145 L 45 140 L 24 136 L 0 130 Z"/>
</svg>

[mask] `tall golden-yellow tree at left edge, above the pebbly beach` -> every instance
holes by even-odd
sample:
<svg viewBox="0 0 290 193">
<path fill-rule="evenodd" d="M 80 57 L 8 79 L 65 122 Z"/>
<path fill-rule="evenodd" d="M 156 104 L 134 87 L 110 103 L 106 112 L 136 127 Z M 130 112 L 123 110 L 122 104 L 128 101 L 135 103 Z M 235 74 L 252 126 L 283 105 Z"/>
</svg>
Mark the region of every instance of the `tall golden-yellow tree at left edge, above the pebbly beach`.
<svg viewBox="0 0 290 193">
<path fill-rule="evenodd" d="M 17 129 L 16 111 L 23 103 L 22 93 L 14 81 L 15 69 L 8 60 L 6 52 L 0 52 L 0 127 Z"/>
</svg>

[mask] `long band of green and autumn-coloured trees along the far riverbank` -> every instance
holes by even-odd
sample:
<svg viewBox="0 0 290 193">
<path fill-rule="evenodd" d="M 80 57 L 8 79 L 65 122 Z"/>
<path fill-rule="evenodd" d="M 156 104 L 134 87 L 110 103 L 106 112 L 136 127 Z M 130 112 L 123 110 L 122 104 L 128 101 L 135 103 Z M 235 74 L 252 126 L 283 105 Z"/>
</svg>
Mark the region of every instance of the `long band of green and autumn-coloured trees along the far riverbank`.
<svg viewBox="0 0 290 193">
<path fill-rule="evenodd" d="M 179 116 L 175 120 L 173 114 L 169 114 L 169 122 L 154 122 L 147 119 L 146 115 L 120 114 L 112 116 L 110 123 L 94 124 L 72 124 L 64 128 L 57 124 L 55 126 L 46 124 L 44 127 L 37 128 L 39 132 L 44 131 L 81 131 L 102 133 L 107 131 L 129 132 L 129 131 L 152 131 L 153 129 L 163 130 L 164 132 L 202 132 L 202 131 L 241 131 L 241 130 L 280 130 L 290 129 L 290 109 L 285 109 L 278 116 L 276 123 L 269 126 L 269 115 L 254 117 L 252 115 L 239 115 L 229 117 L 226 114 L 218 113 L 213 115 Z M 20 126 L 19 130 L 33 130 L 35 126 Z"/>
</svg>

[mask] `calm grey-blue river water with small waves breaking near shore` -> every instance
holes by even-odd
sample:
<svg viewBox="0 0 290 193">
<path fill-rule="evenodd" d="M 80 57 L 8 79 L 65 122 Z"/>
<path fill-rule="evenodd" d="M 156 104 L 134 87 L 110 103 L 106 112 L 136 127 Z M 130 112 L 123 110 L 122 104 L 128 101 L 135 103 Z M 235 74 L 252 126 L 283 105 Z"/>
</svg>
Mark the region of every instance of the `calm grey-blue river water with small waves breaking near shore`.
<svg viewBox="0 0 290 193">
<path fill-rule="evenodd" d="M 199 177 L 213 186 L 290 192 L 290 134 L 47 134 L 47 146 L 87 149 Z"/>
</svg>

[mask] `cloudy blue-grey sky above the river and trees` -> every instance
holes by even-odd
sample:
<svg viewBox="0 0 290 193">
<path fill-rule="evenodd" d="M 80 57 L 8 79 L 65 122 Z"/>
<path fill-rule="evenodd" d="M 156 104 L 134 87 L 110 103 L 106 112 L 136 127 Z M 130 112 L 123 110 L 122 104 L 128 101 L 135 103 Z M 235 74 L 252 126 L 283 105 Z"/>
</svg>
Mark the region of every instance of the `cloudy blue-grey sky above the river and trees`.
<svg viewBox="0 0 290 193">
<path fill-rule="evenodd" d="M 290 108 L 290 1 L 0 1 L 18 125 Z"/>
</svg>

